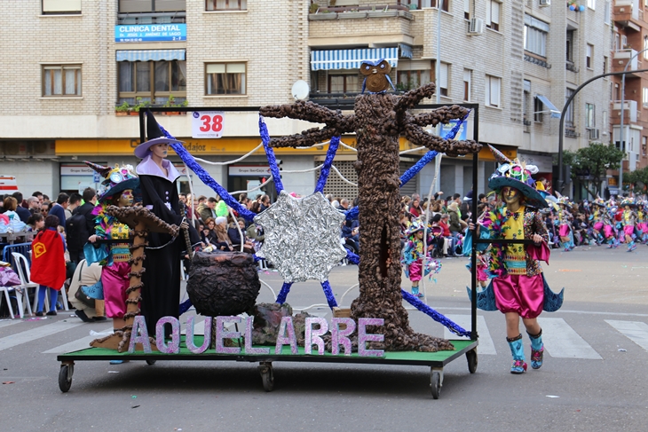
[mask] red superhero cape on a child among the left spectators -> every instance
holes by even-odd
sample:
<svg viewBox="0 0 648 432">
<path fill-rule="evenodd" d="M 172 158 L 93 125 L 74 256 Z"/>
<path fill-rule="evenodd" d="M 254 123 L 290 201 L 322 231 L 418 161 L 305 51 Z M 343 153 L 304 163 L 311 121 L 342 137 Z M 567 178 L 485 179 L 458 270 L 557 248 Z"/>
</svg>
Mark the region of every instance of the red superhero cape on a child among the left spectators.
<svg viewBox="0 0 648 432">
<path fill-rule="evenodd" d="M 59 232 L 39 232 L 31 245 L 31 279 L 39 285 L 59 290 L 66 279 L 63 240 Z"/>
</svg>

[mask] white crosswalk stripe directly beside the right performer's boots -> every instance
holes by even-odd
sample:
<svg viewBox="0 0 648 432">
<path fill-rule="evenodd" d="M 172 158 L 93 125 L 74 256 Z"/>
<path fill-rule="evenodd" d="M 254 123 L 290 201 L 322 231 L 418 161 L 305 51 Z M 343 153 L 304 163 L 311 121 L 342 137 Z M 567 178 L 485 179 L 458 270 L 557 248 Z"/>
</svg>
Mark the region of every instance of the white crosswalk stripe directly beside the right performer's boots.
<svg viewBox="0 0 648 432">
<path fill-rule="evenodd" d="M 551 357 L 603 360 L 563 318 L 538 318 L 542 342 Z"/>
</svg>

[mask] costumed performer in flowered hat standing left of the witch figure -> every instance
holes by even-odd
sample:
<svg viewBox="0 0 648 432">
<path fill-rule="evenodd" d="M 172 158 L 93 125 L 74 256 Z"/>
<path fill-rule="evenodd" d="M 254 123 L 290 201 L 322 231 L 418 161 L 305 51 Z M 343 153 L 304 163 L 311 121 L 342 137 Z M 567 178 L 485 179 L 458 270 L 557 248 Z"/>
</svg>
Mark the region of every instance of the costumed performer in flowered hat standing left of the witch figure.
<svg viewBox="0 0 648 432">
<path fill-rule="evenodd" d="M 106 180 L 101 184 L 102 190 L 99 190 L 98 205 L 92 209 L 92 215 L 95 216 L 95 233 L 90 236 L 88 241 L 97 246 L 86 244 L 83 247 L 83 254 L 88 265 L 99 263 L 102 266 L 101 282 L 106 315 L 113 319 L 113 328 L 116 332 L 126 326 L 123 316 L 126 313 L 126 299 L 128 298 L 126 290 L 130 282 L 130 243 L 98 244 L 97 240 L 128 240 L 130 238 L 129 226 L 122 224 L 114 216 L 108 215 L 106 209 L 110 206 L 132 207 L 135 194 L 138 192 L 139 179 L 130 165 L 123 167 L 115 165 L 115 168 L 110 168 L 89 161 L 85 163 L 104 176 Z M 113 363 L 121 363 L 121 360 L 114 360 Z"/>
</svg>

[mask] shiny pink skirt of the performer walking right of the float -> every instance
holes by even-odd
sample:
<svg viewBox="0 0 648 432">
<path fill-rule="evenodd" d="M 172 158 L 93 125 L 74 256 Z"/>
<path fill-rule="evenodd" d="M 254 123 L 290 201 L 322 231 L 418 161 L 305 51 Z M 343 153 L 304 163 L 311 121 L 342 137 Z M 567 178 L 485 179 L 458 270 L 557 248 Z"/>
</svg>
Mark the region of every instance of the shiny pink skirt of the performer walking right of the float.
<svg viewBox="0 0 648 432">
<path fill-rule="evenodd" d="M 495 304 L 502 313 L 516 312 L 522 318 L 536 318 L 544 302 L 542 275 L 506 275 L 493 279 Z"/>
</svg>

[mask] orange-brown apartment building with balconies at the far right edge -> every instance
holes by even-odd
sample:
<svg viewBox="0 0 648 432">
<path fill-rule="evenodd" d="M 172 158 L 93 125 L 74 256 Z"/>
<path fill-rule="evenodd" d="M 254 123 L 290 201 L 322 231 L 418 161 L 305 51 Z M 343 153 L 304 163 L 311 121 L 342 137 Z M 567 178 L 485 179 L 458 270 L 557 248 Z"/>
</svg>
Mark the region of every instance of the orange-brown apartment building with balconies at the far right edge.
<svg viewBox="0 0 648 432">
<path fill-rule="evenodd" d="M 648 68 L 648 2 L 616 0 L 612 19 L 612 72 Z M 645 16 L 645 18 L 644 18 Z M 625 91 L 623 91 L 625 90 Z M 648 139 L 648 75 L 628 74 L 625 85 L 620 75 L 610 82 L 610 126 L 612 142 L 625 150 L 624 174 L 648 165 L 646 140 Z M 623 99 L 623 100 L 622 100 Z M 621 105 L 622 104 L 622 105 Z M 621 106 L 623 106 L 623 133 L 621 134 Z M 621 136 L 622 135 L 622 136 Z M 608 175 L 608 189 L 619 192 L 619 171 Z M 625 183 L 625 182 L 624 182 Z M 625 185 L 626 188 L 628 185 Z"/>
</svg>

